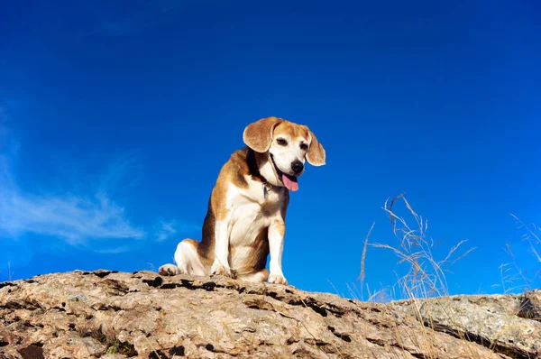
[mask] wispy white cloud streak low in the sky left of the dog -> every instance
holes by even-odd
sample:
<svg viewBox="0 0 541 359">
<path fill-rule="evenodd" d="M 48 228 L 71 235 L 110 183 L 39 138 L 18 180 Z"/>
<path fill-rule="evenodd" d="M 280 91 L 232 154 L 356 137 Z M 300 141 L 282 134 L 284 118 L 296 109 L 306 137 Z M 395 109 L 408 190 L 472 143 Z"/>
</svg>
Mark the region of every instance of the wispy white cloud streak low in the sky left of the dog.
<svg viewBox="0 0 541 359">
<path fill-rule="evenodd" d="M 41 235 L 73 246 L 86 246 L 100 253 L 120 253 L 133 248 L 134 240 L 164 241 L 179 231 L 197 226 L 180 226 L 177 221 L 159 220 L 145 228 L 130 220 L 127 210 L 111 193 L 137 166 L 133 157 L 115 161 L 95 190 L 89 193 L 32 193 L 17 185 L 12 171 L 19 147 L 9 128 L 0 121 L 0 239 Z M 123 182 L 124 184 L 124 182 Z M 128 241 L 126 243 L 126 241 Z"/>
</svg>

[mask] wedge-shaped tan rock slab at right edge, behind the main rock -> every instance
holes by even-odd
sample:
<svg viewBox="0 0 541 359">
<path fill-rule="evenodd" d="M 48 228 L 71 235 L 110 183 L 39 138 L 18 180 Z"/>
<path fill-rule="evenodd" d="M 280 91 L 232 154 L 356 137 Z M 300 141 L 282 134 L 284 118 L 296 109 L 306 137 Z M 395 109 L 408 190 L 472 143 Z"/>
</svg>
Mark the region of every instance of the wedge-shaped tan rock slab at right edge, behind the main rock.
<svg viewBox="0 0 541 359">
<path fill-rule="evenodd" d="M 479 343 L 512 358 L 541 358 L 541 290 L 522 295 L 405 300 L 394 308 L 427 327 Z"/>
</svg>

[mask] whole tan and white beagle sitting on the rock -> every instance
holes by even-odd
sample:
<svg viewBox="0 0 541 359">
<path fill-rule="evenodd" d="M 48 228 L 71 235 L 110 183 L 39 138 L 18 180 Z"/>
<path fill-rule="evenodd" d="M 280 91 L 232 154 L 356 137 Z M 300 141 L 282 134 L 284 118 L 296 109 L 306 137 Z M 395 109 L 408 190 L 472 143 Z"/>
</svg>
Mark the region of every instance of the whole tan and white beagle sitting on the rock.
<svg viewBox="0 0 541 359">
<path fill-rule="evenodd" d="M 225 275 L 288 284 L 281 267 L 289 191 L 298 190 L 305 161 L 326 163 L 326 152 L 304 124 L 261 118 L 244 128 L 241 150 L 226 161 L 208 201 L 201 242 L 182 240 L 175 264 L 161 275 Z M 270 273 L 265 268 L 271 254 Z"/>
</svg>

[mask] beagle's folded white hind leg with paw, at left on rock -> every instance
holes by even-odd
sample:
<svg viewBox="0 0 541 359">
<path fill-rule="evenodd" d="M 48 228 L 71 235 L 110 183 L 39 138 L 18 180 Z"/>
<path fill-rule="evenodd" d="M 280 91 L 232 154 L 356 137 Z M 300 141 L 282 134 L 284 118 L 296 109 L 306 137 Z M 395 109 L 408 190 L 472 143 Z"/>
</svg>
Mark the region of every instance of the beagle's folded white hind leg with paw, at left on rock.
<svg viewBox="0 0 541 359">
<path fill-rule="evenodd" d="M 205 267 L 197 254 L 197 241 L 187 238 L 177 245 L 175 264 L 164 264 L 158 271 L 161 275 L 206 275 Z"/>
</svg>

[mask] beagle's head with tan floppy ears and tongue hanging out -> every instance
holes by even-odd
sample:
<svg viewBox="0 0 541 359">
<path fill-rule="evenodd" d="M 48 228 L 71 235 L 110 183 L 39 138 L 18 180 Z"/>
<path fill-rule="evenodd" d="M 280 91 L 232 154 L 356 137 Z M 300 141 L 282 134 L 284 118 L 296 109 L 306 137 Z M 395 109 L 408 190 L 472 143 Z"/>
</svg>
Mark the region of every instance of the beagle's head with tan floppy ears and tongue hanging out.
<svg viewBox="0 0 541 359">
<path fill-rule="evenodd" d="M 323 166 L 326 161 L 325 149 L 306 125 L 282 118 L 271 116 L 248 124 L 243 140 L 253 151 L 268 153 L 280 184 L 292 191 L 298 190 L 305 161 L 313 166 Z"/>
</svg>

